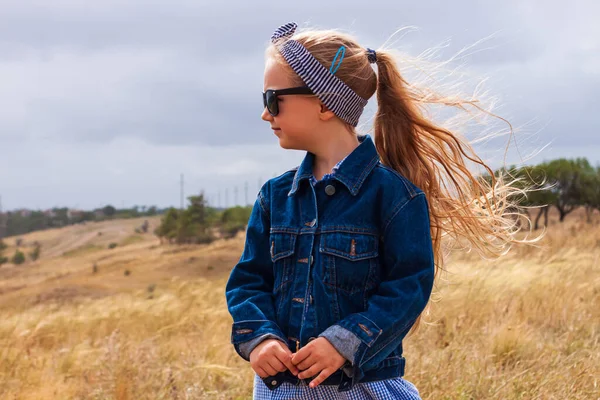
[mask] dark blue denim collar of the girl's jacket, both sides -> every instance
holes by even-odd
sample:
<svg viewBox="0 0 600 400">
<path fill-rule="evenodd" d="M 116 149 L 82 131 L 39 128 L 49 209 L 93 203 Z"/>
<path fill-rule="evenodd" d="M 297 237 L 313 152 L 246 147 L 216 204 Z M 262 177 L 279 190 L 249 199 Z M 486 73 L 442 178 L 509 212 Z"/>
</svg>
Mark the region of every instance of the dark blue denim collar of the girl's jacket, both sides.
<svg viewBox="0 0 600 400">
<path fill-rule="evenodd" d="M 365 179 L 379 162 L 379 155 L 371 136 L 359 136 L 358 141 L 360 142 L 358 147 L 346 157 L 340 168 L 333 174 L 333 178 L 344 184 L 353 196 L 358 194 Z M 288 196 L 293 196 L 301 182 L 313 176 L 314 159 L 313 153 L 306 152 L 302 164 L 296 171 Z"/>
</svg>

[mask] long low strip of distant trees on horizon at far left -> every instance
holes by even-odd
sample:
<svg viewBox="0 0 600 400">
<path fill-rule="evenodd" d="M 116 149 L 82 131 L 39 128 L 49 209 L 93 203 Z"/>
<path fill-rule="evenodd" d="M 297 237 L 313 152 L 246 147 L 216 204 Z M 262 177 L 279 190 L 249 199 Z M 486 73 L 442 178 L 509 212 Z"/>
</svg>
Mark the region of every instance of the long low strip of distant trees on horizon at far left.
<svg viewBox="0 0 600 400">
<path fill-rule="evenodd" d="M 164 210 L 159 210 L 155 206 L 116 209 L 111 205 L 107 205 L 93 211 L 69 210 L 68 208 L 53 208 L 46 211 L 13 211 L 4 213 L 0 218 L 6 220 L 6 236 L 16 236 L 91 221 L 150 217 L 159 215 L 162 212 Z"/>
</svg>

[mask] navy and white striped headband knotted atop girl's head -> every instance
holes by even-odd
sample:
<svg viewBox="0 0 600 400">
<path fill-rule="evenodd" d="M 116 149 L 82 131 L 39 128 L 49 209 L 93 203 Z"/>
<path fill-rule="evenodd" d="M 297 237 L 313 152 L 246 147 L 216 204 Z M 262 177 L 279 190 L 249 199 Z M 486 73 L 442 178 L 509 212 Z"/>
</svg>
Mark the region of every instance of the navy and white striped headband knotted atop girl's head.
<svg viewBox="0 0 600 400">
<path fill-rule="evenodd" d="M 325 68 L 300 42 L 290 39 L 298 25 L 290 22 L 277 28 L 271 36 L 290 67 L 314 94 L 340 119 L 356 127 L 367 105 L 341 79 Z"/>
</svg>

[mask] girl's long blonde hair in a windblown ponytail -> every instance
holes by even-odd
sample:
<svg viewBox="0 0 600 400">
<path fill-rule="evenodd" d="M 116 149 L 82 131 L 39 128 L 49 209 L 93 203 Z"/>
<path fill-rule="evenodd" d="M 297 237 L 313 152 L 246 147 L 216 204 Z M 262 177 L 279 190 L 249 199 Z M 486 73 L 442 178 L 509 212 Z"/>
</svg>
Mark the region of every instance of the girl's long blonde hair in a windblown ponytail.
<svg viewBox="0 0 600 400">
<path fill-rule="evenodd" d="M 518 239 L 522 219 L 531 220 L 520 199 L 530 189 L 508 169 L 496 173 L 477 155 L 469 142 L 453 129 L 456 118 L 446 126 L 427 118 L 428 106 L 447 106 L 463 113 L 468 122 L 483 116 L 505 119 L 481 106 L 480 99 L 461 95 L 442 95 L 431 87 L 409 83 L 401 74 L 392 52 L 376 49 L 377 73 L 369 63 L 365 47 L 351 36 L 336 30 L 304 30 L 292 39 L 300 42 L 326 68 L 340 48 L 345 57 L 335 75 L 364 99 L 377 95 L 374 117 L 374 141 L 381 162 L 418 186 L 427 198 L 431 220 L 431 237 L 435 260 L 435 281 L 444 268 L 442 237 L 452 245 L 475 249 L 486 259 L 499 258 L 516 243 L 534 243 L 541 239 Z M 277 60 L 298 84 L 302 80 L 279 54 L 277 47 L 267 48 L 267 57 Z M 410 58 L 403 58 L 409 60 Z M 419 59 L 412 60 L 417 62 Z M 430 64 L 433 65 L 433 64 Z M 451 123 L 452 122 L 452 123 Z M 348 126 L 349 129 L 354 129 Z M 496 135 L 489 135 L 493 137 Z M 508 146 L 507 146 L 508 150 Z M 506 156 L 506 153 L 505 153 Z M 467 162 L 484 169 L 475 176 Z M 510 179 L 507 181 L 506 177 Z M 415 321 L 411 332 L 419 325 Z"/>
</svg>

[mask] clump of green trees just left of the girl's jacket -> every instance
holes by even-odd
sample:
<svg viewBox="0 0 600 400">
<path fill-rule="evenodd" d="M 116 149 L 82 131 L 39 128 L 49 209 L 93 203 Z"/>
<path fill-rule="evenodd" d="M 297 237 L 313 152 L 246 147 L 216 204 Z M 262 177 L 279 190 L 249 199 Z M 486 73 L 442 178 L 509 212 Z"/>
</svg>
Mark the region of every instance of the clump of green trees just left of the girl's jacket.
<svg viewBox="0 0 600 400">
<path fill-rule="evenodd" d="M 210 243 L 218 238 L 231 238 L 246 229 L 252 207 L 218 210 L 209 207 L 204 194 L 188 197 L 185 210 L 169 208 L 154 233 L 161 242 L 176 244 Z"/>
</svg>

